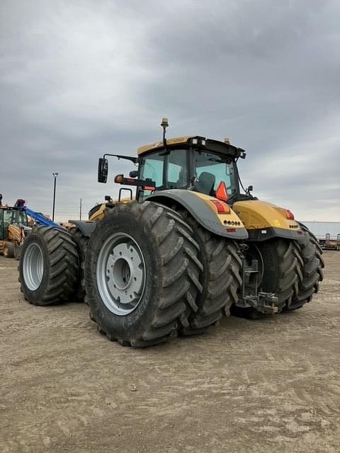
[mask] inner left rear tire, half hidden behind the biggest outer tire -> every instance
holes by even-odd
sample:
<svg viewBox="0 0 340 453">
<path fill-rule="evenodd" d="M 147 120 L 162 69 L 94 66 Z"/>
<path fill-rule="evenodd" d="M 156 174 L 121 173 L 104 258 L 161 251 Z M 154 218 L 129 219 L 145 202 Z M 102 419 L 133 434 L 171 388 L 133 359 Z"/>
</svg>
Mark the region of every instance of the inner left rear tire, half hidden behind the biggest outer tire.
<svg viewBox="0 0 340 453">
<path fill-rule="evenodd" d="M 183 217 L 193 229 L 193 238 L 200 246 L 198 258 L 203 263 L 200 283 L 203 292 L 198 295 L 198 311 L 189 316 L 190 325 L 181 329 L 182 335 L 196 335 L 214 326 L 222 316 L 229 316 L 230 307 L 237 302 L 242 285 L 242 260 L 237 243 L 203 229 L 188 213 Z"/>
</svg>

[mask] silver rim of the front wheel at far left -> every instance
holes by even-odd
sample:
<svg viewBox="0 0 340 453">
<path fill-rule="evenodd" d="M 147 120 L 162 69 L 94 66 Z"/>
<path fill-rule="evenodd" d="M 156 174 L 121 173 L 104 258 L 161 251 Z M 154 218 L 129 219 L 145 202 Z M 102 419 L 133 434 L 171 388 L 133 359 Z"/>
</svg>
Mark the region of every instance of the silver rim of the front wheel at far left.
<svg viewBox="0 0 340 453">
<path fill-rule="evenodd" d="M 23 256 L 23 280 L 25 280 L 30 291 L 35 291 L 40 287 L 43 274 L 44 258 L 42 250 L 37 243 L 30 243 Z"/>
</svg>

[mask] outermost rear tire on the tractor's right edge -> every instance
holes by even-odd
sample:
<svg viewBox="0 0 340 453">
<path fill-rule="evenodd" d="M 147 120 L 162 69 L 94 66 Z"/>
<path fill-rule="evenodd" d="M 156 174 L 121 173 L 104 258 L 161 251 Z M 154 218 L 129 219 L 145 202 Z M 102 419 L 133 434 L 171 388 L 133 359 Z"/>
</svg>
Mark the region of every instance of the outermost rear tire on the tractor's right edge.
<svg viewBox="0 0 340 453">
<path fill-rule="evenodd" d="M 303 234 L 297 243 L 300 246 L 300 254 L 303 260 L 302 280 L 300 280 L 297 293 L 285 305 L 285 309 L 296 310 L 312 300 L 312 295 L 319 290 L 319 282 L 322 282 L 324 274 L 324 260 L 322 250 L 317 238 L 307 226 L 300 224 Z"/>
</svg>

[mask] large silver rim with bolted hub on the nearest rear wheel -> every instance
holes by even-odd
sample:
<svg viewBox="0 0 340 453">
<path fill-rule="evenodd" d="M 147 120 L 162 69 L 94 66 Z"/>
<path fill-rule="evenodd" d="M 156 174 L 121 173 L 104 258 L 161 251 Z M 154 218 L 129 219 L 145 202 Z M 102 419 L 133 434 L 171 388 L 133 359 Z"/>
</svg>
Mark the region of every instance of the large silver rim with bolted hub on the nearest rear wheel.
<svg viewBox="0 0 340 453">
<path fill-rule="evenodd" d="M 115 233 L 106 239 L 96 279 L 101 299 L 112 313 L 125 316 L 137 308 L 145 288 L 145 260 L 131 236 Z"/>
</svg>

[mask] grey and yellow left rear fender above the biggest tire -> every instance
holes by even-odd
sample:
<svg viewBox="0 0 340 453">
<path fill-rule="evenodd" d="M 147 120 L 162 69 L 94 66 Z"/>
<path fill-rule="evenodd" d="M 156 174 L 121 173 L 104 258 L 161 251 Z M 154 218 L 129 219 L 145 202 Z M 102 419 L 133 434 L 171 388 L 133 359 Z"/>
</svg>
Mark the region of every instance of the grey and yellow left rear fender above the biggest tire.
<svg viewBox="0 0 340 453">
<path fill-rule="evenodd" d="M 212 203 L 212 200 L 219 201 L 215 197 L 192 190 L 172 189 L 156 192 L 147 197 L 147 200 L 169 207 L 183 207 L 203 228 L 218 236 L 230 239 L 248 238 L 242 220 L 232 209 L 229 214 L 217 213 L 217 207 Z"/>
</svg>

